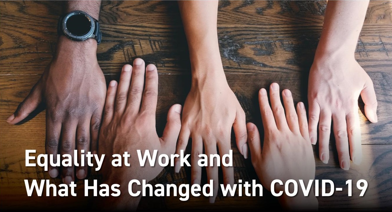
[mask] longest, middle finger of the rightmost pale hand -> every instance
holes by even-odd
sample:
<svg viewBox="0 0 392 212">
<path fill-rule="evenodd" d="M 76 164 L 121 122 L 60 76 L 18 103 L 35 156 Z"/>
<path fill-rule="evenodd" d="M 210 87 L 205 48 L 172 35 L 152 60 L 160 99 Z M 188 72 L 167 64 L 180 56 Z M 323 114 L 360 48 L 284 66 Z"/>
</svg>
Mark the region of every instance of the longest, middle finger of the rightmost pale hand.
<svg viewBox="0 0 392 212">
<path fill-rule="evenodd" d="M 346 116 L 343 113 L 334 114 L 333 120 L 336 149 L 338 150 L 340 168 L 348 170 L 350 169 L 350 154 L 348 152 Z"/>
</svg>

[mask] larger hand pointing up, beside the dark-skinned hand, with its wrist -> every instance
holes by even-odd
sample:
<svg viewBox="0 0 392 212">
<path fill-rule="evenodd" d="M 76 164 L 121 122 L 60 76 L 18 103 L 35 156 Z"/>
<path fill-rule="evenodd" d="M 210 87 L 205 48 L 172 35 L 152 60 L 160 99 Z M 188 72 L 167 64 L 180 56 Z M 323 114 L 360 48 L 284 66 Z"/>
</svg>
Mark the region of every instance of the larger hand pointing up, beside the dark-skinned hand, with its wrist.
<svg viewBox="0 0 392 212">
<path fill-rule="evenodd" d="M 146 72 L 144 67 L 145 63 L 140 58 L 134 60 L 133 68 L 131 65 L 124 65 L 120 83 L 117 85 L 116 81 L 111 81 L 107 89 L 98 152 L 106 157 L 113 154 L 122 155 L 124 152 L 131 155 L 128 160 L 130 167 L 113 167 L 111 160 L 106 157 L 102 165 L 101 172 L 105 183 L 111 185 L 120 182 L 122 195 L 112 199 L 116 210 L 134 210 L 138 205 L 140 197 L 132 198 L 127 194 L 130 180 L 150 181 L 163 169 L 159 165 L 140 167 L 136 150 L 141 150 L 142 154 L 145 150 L 150 150 L 152 154 L 156 149 L 157 158 L 160 154 L 173 154 L 181 129 L 181 105 L 173 105 L 167 114 L 163 136 L 159 138 L 156 134 L 158 71 L 152 64 L 147 65 Z"/>
</svg>

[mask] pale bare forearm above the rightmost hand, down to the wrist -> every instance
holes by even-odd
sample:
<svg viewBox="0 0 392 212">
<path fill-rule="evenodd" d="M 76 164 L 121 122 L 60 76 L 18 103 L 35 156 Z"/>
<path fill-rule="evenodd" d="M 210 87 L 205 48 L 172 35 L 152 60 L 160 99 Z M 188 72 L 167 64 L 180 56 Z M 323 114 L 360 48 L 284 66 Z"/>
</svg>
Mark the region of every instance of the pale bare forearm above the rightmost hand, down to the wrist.
<svg viewBox="0 0 392 212">
<path fill-rule="evenodd" d="M 328 1 L 316 56 L 354 53 L 369 1 Z"/>
</svg>

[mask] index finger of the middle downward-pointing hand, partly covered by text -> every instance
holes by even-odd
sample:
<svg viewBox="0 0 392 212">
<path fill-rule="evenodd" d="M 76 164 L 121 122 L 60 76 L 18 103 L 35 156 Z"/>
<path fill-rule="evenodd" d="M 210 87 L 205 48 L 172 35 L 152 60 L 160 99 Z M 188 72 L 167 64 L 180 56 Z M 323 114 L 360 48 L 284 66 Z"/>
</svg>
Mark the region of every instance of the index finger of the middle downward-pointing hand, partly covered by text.
<svg viewBox="0 0 392 212">
<path fill-rule="evenodd" d="M 221 163 L 223 163 L 223 156 L 225 154 L 229 155 L 231 145 L 230 145 L 230 132 L 225 136 L 224 139 L 218 141 L 219 154 L 221 157 Z M 245 143 L 246 145 L 246 143 Z M 225 157 L 226 164 L 229 163 L 229 157 Z M 221 165 L 223 172 L 223 183 L 224 185 L 234 185 L 234 168 L 232 166 L 226 167 Z"/>
</svg>

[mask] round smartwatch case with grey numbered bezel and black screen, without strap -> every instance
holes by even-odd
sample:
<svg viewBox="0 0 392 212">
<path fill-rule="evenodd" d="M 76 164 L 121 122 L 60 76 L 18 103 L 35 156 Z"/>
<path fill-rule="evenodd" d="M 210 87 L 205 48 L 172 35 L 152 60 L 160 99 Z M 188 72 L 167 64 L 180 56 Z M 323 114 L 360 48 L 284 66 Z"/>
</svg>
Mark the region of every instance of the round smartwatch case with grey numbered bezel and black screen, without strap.
<svg viewBox="0 0 392 212">
<path fill-rule="evenodd" d="M 65 35 L 73 40 L 86 40 L 93 36 L 95 22 L 93 17 L 83 11 L 72 11 L 62 20 Z"/>
</svg>

